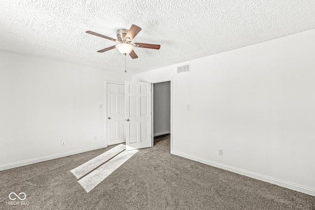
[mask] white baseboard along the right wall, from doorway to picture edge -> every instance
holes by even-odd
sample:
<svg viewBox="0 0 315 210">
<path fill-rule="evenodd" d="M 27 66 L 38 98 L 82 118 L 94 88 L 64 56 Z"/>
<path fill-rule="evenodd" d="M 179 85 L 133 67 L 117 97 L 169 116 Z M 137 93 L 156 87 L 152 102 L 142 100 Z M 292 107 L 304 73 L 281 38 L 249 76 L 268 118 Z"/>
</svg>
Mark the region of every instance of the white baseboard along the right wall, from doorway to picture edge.
<svg viewBox="0 0 315 210">
<path fill-rule="evenodd" d="M 213 162 L 213 161 L 205 160 L 205 159 L 198 158 L 198 157 L 195 157 L 195 156 L 192 156 L 192 155 L 187 155 L 187 154 L 184 154 L 184 153 L 181 153 L 181 152 L 176 152 L 174 150 L 171 151 L 171 154 L 178 155 L 178 156 L 190 159 L 190 160 L 194 160 L 194 161 L 197 161 L 197 162 L 200 162 L 200 163 L 204 163 L 204 164 L 207 164 L 207 165 L 210 165 L 210 166 L 214 166 L 216 168 L 224 169 L 226 171 L 234 172 L 234 173 L 237 173 L 237 174 L 240 174 L 240 175 L 246 175 L 246 176 L 249 176 L 251 178 L 255 178 L 255 179 L 258 179 L 258 180 L 261 180 L 261 181 L 266 181 L 266 182 L 269 182 L 269 183 L 272 183 L 272 184 L 276 184 L 276 185 L 279 185 L 279 186 L 282 186 L 282 187 L 285 187 L 285 188 L 288 188 L 288 189 L 291 189 L 291 190 L 295 190 L 295 191 L 298 191 L 298 192 L 302 192 L 302 193 L 305 193 L 305 194 L 309 194 L 309 195 L 315 196 L 315 189 L 312 189 L 312 188 L 304 187 L 304 186 L 301 186 L 301 185 L 298 185 L 298 184 L 290 183 L 290 182 L 283 181 L 283 180 L 276 179 L 276 178 L 272 178 L 272 177 L 269 177 L 269 176 L 256 174 L 256 173 L 249 172 L 249 171 L 246 171 L 246 170 L 242 170 L 242 169 L 238 169 L 238 168 L 235 168 L 235 167 L 227 166 L 227 165 L 224 165 L 224 164 L 221 164 L 221 163 L 216 163 L 216 162 Z"/>
</svg>

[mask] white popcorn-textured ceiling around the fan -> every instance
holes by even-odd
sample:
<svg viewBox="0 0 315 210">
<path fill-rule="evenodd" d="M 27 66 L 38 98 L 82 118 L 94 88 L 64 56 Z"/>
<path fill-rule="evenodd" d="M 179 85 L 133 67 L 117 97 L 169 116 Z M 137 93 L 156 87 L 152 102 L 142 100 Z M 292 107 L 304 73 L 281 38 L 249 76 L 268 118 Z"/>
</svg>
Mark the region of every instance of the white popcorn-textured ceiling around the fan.
<svg viewBox="0 0 315 210">
<path fill-rule="evenodd" d="M 315 29 L 315 0 L 1 0 L 0 49 L 124 71 L 115 42 L 132 24 L 142 28 L 127 70 L 138 73 Z"/>
</svg>

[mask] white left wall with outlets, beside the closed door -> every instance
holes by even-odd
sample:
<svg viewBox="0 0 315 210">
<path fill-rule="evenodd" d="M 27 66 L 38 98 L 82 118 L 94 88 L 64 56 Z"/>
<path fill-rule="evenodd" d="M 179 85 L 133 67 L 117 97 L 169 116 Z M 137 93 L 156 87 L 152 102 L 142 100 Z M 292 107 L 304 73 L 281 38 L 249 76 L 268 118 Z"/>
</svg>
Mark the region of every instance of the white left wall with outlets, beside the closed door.
<svg viewBox="0 0 315 210">
<path fill-rule="evenodd" d="M 0 51 L 0 170 L 105 147 L 105 80 L 130 79 Z"/>
</svg>

